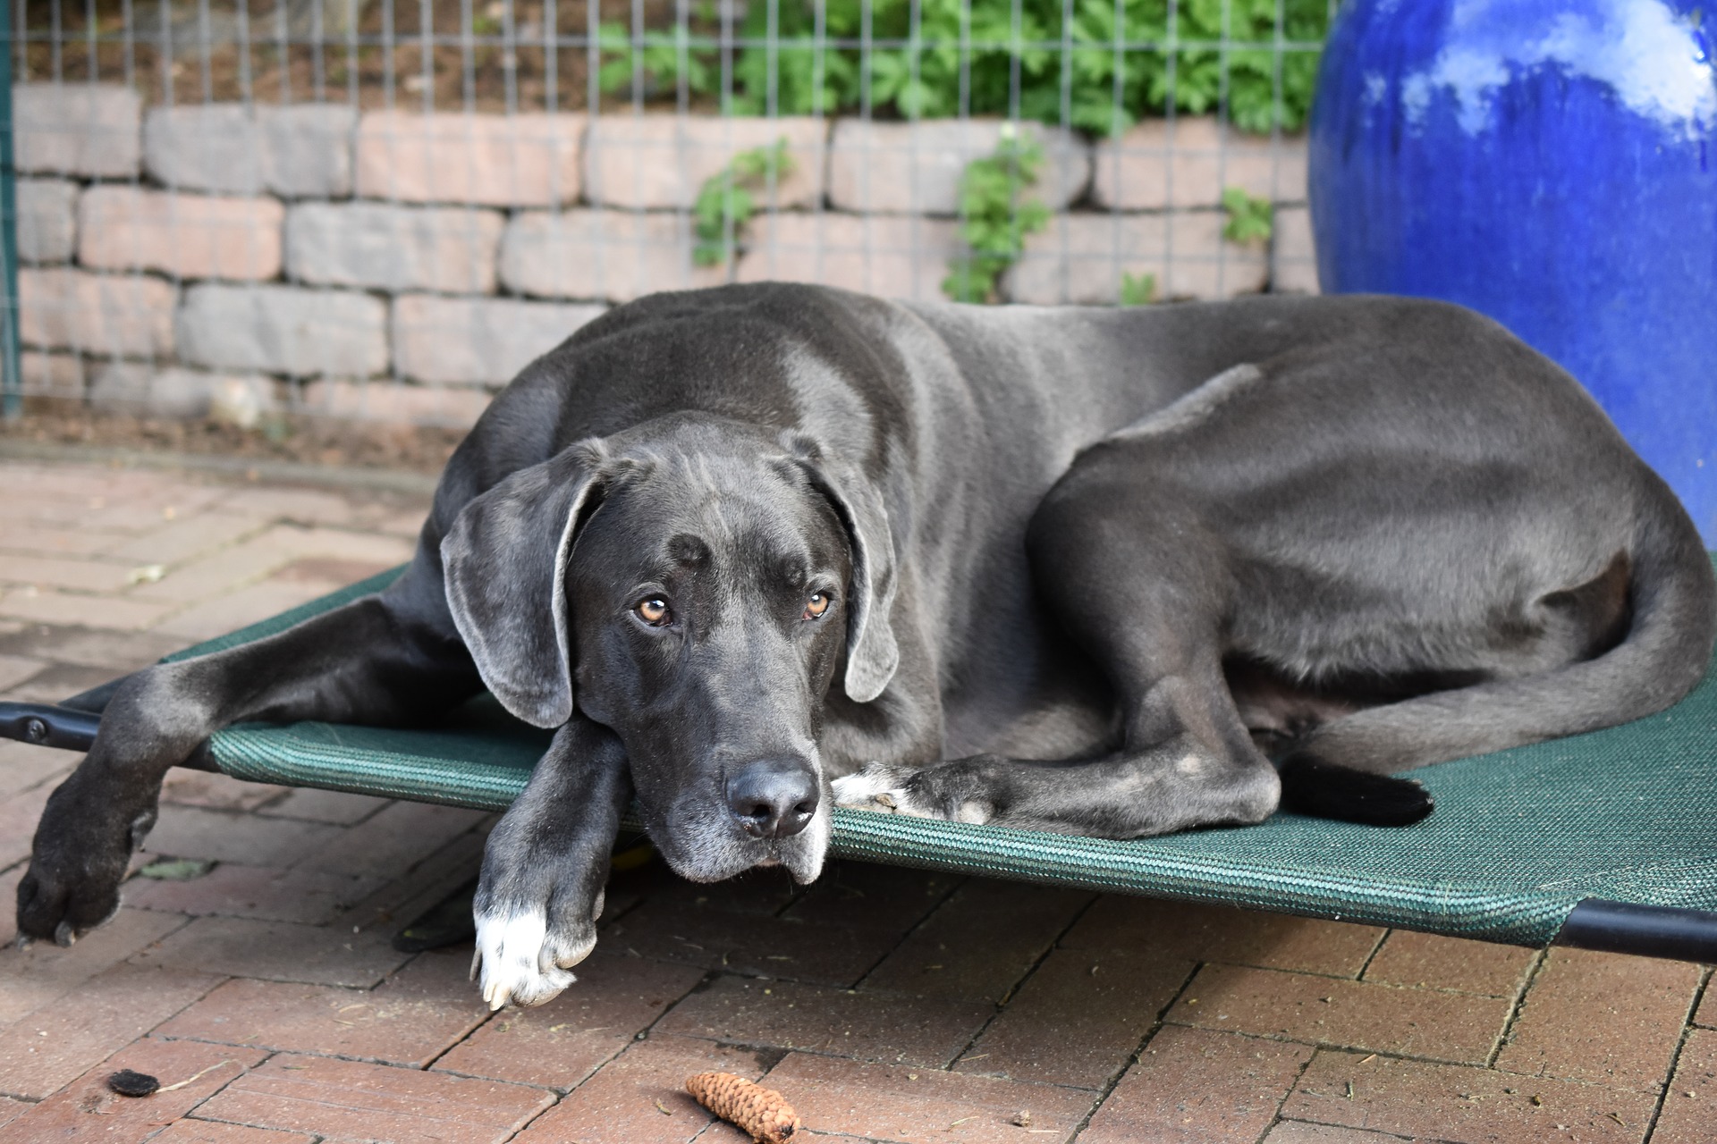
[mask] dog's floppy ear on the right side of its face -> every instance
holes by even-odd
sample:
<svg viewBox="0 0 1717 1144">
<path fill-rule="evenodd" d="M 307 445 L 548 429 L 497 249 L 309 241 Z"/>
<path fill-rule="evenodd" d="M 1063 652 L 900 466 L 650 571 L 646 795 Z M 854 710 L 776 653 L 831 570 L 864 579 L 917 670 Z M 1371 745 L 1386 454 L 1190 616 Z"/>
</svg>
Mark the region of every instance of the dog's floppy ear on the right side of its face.
<svg viewBox="0 0 1717 1144">
<path fill-rule="evenodd" d="M 846 602 L 846 696 L 869 703 L 883 695 L 900 665 L 895 643 L 895 537 L 876 484 L 812 437 L 788 431 L 781 443 L 829 499 L 846 528 L 853 583 Z"/>
</svg>

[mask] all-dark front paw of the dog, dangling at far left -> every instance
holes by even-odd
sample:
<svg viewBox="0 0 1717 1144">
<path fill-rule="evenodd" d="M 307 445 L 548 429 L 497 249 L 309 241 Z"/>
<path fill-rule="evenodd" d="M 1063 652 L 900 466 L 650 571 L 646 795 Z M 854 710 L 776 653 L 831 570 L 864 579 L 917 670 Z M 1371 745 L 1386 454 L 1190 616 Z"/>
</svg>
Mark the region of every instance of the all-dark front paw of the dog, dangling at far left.
<svg viewBox="0 0 1717 1144">
<path fill-rule="evenodd" d="M 48 798 L 29 870 L 17 883 L 17 938 L 70 945 L 118 912 L 130 854 L 155 825 L 155 808 L 129 813 L 88 798 L 74 775 Z"/>
</svg>

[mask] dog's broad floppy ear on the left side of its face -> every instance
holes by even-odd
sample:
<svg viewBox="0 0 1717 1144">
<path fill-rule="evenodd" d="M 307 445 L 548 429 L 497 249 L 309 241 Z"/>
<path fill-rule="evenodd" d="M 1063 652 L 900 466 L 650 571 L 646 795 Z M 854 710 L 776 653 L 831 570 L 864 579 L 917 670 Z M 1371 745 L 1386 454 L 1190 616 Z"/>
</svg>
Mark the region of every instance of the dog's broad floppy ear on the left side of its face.
<svg viewBox="0 0 1717 1144">
<path fill-rule="evenodd" d="M 606 448 L 580 441 L 474 497 L 441 540 L 446 602 L 482 683 L 536 727 L 572 719 L 567 559 Z"/>
</svg>

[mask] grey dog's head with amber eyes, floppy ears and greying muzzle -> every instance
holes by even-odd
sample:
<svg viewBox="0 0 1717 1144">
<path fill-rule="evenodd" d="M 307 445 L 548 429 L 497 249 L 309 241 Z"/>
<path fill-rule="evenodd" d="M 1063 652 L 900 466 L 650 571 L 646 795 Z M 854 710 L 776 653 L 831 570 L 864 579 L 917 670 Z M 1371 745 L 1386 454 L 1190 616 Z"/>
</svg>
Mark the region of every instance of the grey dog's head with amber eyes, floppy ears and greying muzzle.
<svg viewBox="0 0 1717 1144">
<path fill-rule="evenodd" d="M 611 727 L 678 873 L 817 876 L 824 695 L 871 701 L 898 662 L 895 547 L 857 468 L 797 432 L 659 418 L 472 499 L 441 557 L 484 683 L 537 727 Z"/>
</svg>

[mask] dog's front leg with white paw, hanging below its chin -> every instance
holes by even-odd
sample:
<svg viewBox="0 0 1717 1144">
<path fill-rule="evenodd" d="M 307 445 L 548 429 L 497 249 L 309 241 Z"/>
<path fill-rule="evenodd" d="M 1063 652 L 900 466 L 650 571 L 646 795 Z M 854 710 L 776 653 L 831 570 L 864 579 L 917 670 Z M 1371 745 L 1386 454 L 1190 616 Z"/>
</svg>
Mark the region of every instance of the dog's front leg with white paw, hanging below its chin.
<svg viewBox="0 0 1717 1144">
<path fill-rule="evenodd" d="M 575 713 L 482 852 L 470 971 L 481 967 L 491 1009 L 541 1005 L 572 984 L 570 969 L 596 947 L 608 856 L 630 798 L 620 739 Z"/>
</svg>

